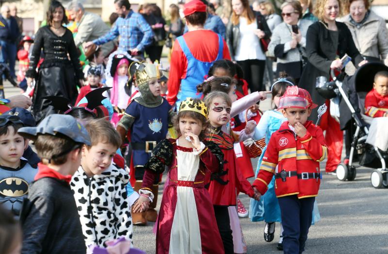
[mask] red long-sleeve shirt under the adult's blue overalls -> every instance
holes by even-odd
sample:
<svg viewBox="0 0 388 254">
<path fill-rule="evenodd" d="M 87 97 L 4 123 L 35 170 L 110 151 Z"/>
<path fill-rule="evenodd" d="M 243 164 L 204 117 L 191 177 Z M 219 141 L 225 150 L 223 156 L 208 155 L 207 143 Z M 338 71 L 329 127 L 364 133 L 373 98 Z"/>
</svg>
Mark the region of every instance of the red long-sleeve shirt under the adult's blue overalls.
<svg viewBox="0 0 388 254">
<path fill-rule="evenodd" d="M 202 62 L 215 61 L 218 55 L 218 35 L 210 30 L 197 30 L 183 34 L 187 47 L 195 59 Z M 224 42 L 223 59 L 230 60 L 229 50 Z M 186 78 L 187 58 L 175 41 L 171 54 L 170 74 L 168 79 L 167 101 L 172 105 L 177 101 L 180 80 Z M 207 74 L 207 73 L 206 73 Z"/>
</svg>

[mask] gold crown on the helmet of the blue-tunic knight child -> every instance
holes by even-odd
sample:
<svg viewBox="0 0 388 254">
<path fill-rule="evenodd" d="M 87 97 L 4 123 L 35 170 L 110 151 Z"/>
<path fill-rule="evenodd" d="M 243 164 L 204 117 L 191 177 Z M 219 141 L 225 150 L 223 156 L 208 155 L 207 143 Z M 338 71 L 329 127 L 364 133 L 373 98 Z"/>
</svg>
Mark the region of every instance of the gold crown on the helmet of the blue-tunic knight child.
<svg viewBox="0 0 388 254">
<path fill-rule="evenodd" d="M 134 74 L 131 73 L 133 71 L 132 65 L 136 67 Z M 146 62 L 131 63 L 128 68 L 128 73 L 129 79 L 132 78 L 132 75 L 135 76 L 137 85 L 142 85 L 148 81 L 161 78 L 161 72 L 159 71 L 159 67 L 157 65 Z"/>
</svg>

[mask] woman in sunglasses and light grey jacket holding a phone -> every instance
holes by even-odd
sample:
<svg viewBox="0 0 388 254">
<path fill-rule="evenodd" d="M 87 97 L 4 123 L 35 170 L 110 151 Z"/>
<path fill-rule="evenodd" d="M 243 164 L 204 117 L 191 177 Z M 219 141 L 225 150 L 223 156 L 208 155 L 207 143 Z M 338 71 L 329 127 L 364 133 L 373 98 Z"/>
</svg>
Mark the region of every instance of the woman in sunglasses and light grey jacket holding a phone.
<svg viewBox="0 0 388 254">
<path fill-rule="evenodd" d="M 297 85 L 306 58 L 307 28 L 313 22 L 301 19 L 302 6 L 297 0 L 284 2 L 281 10 L 284 22 L 275 27 L 268 53 L 277 57 L 276 77 L 285 71 Z"/>
</svg>

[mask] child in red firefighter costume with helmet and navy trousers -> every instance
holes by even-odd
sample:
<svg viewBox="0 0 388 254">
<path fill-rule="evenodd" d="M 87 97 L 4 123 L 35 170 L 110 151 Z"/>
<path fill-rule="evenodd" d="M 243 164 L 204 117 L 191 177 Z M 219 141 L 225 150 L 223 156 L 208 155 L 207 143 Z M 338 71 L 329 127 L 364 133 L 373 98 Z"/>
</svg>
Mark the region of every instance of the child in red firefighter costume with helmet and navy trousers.
<svg viewBox="0 0 388 254">
<path fill-rule="evenodd" d="M 307 90 L 287 87 L 278 107 L 287 121 L 272 134 L 252 185 L 264 194 L 275 174 L 285 254 L 299 254 L 305 249 L 322 178 L 319 163 L 327 154 L 321 128 L 307 120 L 315 107 Z"/>
</svg>

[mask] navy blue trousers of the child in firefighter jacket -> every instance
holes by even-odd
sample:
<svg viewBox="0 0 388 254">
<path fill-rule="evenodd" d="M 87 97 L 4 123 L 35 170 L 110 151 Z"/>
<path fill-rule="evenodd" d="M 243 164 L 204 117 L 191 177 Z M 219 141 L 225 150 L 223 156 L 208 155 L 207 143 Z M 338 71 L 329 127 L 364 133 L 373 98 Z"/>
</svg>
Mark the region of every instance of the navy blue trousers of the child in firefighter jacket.
<svg viewBox="0 0 388 254">
<path fill-rule="evenodd" d="M 300 254 L 305 250 L 314 200 L 315 197 L 298 199 L 297 195 L 278 198 L 284 230 L 284 254 Z"/>
</svg>

